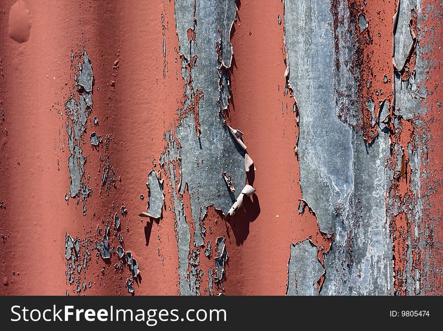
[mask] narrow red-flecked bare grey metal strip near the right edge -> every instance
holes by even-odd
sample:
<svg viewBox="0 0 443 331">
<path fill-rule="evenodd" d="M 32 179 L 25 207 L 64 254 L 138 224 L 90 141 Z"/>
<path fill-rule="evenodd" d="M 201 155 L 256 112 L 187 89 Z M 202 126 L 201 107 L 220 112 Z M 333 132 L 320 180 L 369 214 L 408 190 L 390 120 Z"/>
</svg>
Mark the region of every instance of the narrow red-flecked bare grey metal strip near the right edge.
<svg viewBox="0 0 443 331">
<path fill-rule="evenodd" d="M 418 8 L 417 8 L 418 6 Z M 427 111 L 428 104 L 426 102 L 427 90 L 426 81 L 428 77 L 428 54 L 430 50 L 429 45 L 421 45 L 420 41 L 422 36 L 428 31 L 422 31 L 423 21 L 426 22 L 428 15 L 433 15 L 432 6 L 428 5 L 424 12 L 419 2 L 412 0 L 401 0 L 399 8 L 399 16 L 397 22 L 397 29 L 395 31 L 395 60 L 399 67 L 403 64 L 408 55 L 408 51 L 412 42 L 411 27 L 409 25 L 411 19 L 411 11 L 414 10 L 414 16 L 417 20 L 417 43 L 415 49 L 412 50 L 412 55 L 416 55 L 414 68 L 406 68 L 411 72 L 410 77 L 407 80 L 402 80 L 400 73 L 395 72 L 395 113 L 401 115 L 402 119 L 395 119 L 396 134 L 399 134 L 402 130 L 403 120 L 412 120 L 414 127 L 417 128 L 415 132 L 415 139 L 412 144 L 408 146 L 402 146 L 401 153 L 407 153 L 410 173 L 410 189 L 411 192 L 406 198 L 399 198 L 398 196 L 388 197 L 388 205 L 394 211 L 394 215 L 398 215 L 401 212 L 405 212 L 408 221 L 413 224 L 414 233 L 410 233 L 407 238 L 408 250 L 406 252 L 406 268 L 402 275 L 397 275 L 402 281 L 403 290 L 406 294 L 416 295 L 425 294 L 430 290 L 430 284 L 423 280 L 428 279 L 428 274 L 431 270 L 436 269 L 436 266 L 430 265 L 429 254 L 423 254 L 421 256 L 421 266 L 418 266 L 415 258 L 413 257 L 414 251 L 424 249 L 426 242 L 428 241 L 428 234 L 432 231 L 433 220 L 427 220 L 425 225 L 421 222 L 423 218 L 423 204 L 424 197 L 422 195 L 423 185 L 422 178 L 427 174 L 422 172 L 422 168 L 428 168 L 428 162 L 426 159 L 427 148 L 429 146 L 427 133 L 423 130 L 424 123 L 422 117 L 417 115 L 424 115 Z M 441 17 L 441 15 L 440 15 Z M 426 26 L 426 30 L 435 30 L 433 26 Z M 431 34 L 436 31 L 432 31 Z M 402 68 L 398 68 L 401 70 Z M 412 70 L 414 70 L 412 72 Z M 423 104 L 425 106 L 423 107 Z M 400 172 L 400 167 L 397 165 L 396 173 Z M 392 179 L 395 181 L 394 177 Z M 435 222 L 435 220 L 434 220 Z M 411 226 L 412 228 L 412 226 Z M 427 251 L 424 249 L 424 251 Z M 422 268 L 420 268 L 422 267 Z"/>
</svg>

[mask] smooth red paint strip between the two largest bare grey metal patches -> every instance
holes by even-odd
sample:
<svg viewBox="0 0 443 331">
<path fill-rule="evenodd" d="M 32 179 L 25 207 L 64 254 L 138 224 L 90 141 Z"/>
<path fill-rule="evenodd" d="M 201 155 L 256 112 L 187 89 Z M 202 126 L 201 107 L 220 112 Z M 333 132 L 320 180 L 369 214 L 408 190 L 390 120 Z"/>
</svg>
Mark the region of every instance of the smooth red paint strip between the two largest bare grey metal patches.
<svg viewBox="0 0 443 331">
<path fill-rule="evenodd" d="M 278 2 L 268 6 L 242 2 L 233 26 L 228 117 L 233 127 L 247 124 L 245 144 L 257 167 L 248 182 L 265 194 L 245 201 L 245 212 L 239 211 L 229 221 L 237 245 L 227 243 L 230 262 L 226 294 L 282 295 L 286 291 L 291 242 L 312 238 L 318 247 L 326 247 L 321 252 L 329 249 L 316 217 L 298 212 L 302 198 L 294 154 L 298 113 L 294 112 L 295 99 L 284 77 L 284 24 L 279 25 L 277 20 L 282 13 L 283 6 Z M 276 150 L 278 153 L 274 153 Z"/>
</svg>

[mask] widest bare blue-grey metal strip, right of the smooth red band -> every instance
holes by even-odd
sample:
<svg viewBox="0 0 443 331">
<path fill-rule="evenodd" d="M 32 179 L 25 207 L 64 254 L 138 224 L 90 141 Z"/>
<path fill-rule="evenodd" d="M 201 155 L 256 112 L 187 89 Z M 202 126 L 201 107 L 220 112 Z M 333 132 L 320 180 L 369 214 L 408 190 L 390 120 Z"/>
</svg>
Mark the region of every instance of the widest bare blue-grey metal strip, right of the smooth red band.
<svg viewBox="0 0 443 331">
<path fill-rule="evenodd" d="M 389 138 L 380 128 L 379 137 L 366 145 L 349 125 L 356 121 L 355 95 L 340 91 L 356 91 L 358 78 L 349 70 L 355 32 L 347 2 L 337 5 L 343 23 L 335 28 L 329 0 L 284 4 L 289 83 L 300 111 L 303 197 L 320 230 L 335 237 L 325 255 L 321 294 L 388 294 L 393 288 L 385 208 Z M 311 261 L 310 255 L 298 258 L 306 265 Z"/>
</svg>

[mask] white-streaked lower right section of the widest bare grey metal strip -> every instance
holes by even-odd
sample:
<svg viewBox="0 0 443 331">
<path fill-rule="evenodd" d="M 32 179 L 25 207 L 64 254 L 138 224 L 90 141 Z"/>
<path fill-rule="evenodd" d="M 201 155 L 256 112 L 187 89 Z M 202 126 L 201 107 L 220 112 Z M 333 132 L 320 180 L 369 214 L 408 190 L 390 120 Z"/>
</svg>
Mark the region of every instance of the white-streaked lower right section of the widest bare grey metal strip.
<svg viewBox="0 0 443 331">
<path fill-rule="evenodd" d="M 389 187 L 388 134 L 379 129 L 373 144 L 353 134 L 354 189 L 333 231 L 325 255 L 322 294 L 387 295 L 393 291 L 392 241 L 386 215 Z"/>
</svg>

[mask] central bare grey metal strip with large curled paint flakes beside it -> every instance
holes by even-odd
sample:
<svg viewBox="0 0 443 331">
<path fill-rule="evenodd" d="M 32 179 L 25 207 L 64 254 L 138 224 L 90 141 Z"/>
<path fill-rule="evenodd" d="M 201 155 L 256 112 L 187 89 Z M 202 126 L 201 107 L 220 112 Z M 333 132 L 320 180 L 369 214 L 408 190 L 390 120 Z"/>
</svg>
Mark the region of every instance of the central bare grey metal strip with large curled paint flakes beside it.
<svg viewBox="0 0 443 331">
<path fill-rule="evenodd" d="M 226 68 L 231 66 L 230 32 L 236 10 L 234 0 L 175 1 L 176 28 L 180 54 L 183 55 L 181 72 L 186 84 L 186 101 L 184 108 L 178 112 L 185 115 L 175 129 L 175 139 L 168 140 L 167 137 L 170 145 L 178 140 L 181 149 L 172 155 L 163 155 L 161 160 L 181 160 L 180 180 L 183 184 L 179 185 L 180 193 L 184 192 L 186 183 L 191 199 L 192 222 L 195 225 L 194 242 L 191 243 L 190 227 L 183 212 L 182 201 L 174 190 L 181 295 L 199 294 L 197 266 L 193 265 L 191 272 L 188 272 L 188 256 L 191 256 L 191 250 L 204 246 L 201 220 L 206 214 L 206 207 L 214 205 L 226 214 L 235 201 L 235 196 L 227 190 L 220 173 L 229 173 L 234 187 L 243 187 L 246 181 L 245 152 L 231 137 L 223 116 L 219 115 L 220 109 L 227 106 L 229 96 Z M 189 40 L 189 29 L 195 33 L 195 41 Z M 201 94 L 197 109 L 199 128 L 196 127 L 194 113 L 187 108 L 193 107 L 191 101 L 197 93 Z M 174 150 L 174 147 L 169 146 L 168 150 L 171 149 Z M 172 163 L 166 166 L 168 168 L 172 182 L 178 183 Z"/>
</svg>

